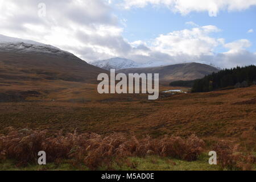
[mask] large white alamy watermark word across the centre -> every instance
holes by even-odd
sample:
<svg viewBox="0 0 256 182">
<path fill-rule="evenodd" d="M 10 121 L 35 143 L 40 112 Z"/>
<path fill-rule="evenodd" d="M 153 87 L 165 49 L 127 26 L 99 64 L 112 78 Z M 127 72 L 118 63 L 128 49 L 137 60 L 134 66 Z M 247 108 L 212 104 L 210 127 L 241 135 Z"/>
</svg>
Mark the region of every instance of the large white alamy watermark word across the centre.
<svg viewBox="0 0 256 182">
<path fill-rule="evenodd" d="M 115 74 L 115 69 L 110 70 L 110 78 L 106 73 L 98 75 L 98 93 L 129 93 L 129 94 L 151 94 L 148 100 L 156 100 L 159 97 L 159 73 L 124 73 Z M 116 82 L 118 83 L 116 84 Z M 154 81 L 154 84 L 153 84 Z"/>
</svg>

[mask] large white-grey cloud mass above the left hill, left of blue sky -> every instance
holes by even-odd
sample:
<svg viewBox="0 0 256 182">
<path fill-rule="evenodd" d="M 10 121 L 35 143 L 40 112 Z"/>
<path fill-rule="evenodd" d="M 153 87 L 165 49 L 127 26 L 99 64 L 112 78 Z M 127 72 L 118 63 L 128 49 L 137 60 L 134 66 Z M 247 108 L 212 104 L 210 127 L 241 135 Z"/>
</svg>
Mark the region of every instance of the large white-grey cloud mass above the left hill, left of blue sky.
<svg viewBox="0 0 256 182">
<path fill-rule="evenodd" d="M 38 16 L 40 2 L 0 0 L 0 34 L 52 44 L 84 60 L 105 59 L 131 49 L 109 1 L 44 0 L 45 18 Z"/>
</svg>

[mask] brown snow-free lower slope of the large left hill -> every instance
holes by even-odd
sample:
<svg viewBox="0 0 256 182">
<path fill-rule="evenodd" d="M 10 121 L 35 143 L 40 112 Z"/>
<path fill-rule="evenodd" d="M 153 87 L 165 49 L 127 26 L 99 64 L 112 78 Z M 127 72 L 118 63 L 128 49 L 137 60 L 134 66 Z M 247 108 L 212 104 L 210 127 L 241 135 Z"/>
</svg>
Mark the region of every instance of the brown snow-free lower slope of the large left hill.
<svg viewBox="0 0 256 182">
<path fill-rule="evenodd" d="M 96 82 L 103 69 L 87 64 L 78 57 L 68 55 L 48 55 L 0 52 L 1 80 L 64 80 Z"/>
</svg>

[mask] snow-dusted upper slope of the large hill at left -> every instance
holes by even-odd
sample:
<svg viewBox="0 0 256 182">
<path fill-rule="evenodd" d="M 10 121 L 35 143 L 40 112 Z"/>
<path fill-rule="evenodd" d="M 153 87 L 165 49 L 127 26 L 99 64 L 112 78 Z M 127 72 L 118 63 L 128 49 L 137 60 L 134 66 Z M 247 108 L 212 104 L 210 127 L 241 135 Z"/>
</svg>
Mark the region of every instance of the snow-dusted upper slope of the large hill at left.
<svg viewBox="0 0 256 182">
<path fill-rule="evenodd" d="M 0 52 L 17 52 L 17 53 L 36 53 L 50 54 L 58 56 L 74 56 L 72 53 L 63 51 L 57 47 L 35 42 L 32 40 L 24 40 L 19 38 L 11 38 L 9 36 L 0 35 Z"/>
</svg>

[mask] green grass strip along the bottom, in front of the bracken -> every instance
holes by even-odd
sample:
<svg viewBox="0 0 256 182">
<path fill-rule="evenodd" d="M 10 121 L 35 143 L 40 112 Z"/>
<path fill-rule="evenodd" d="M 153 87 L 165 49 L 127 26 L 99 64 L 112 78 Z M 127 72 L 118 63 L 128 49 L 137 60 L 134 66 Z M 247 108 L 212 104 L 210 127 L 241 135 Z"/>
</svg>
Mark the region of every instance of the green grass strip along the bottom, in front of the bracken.
<svg viewBox="0 0 256 182">
<path fill-rule="evenodd" d="M 209 165 L 208 155 L 203 154 L 199 160 L 195 162 L 186 162 L 183 160 L 162 158 L 159 156 L 147 156 L 146 158 L 129 158 L 132 164 L 123 163 L 121 166 L 113 163 L 111 169 L 121 171 L 216 171 L 220 169 L 218 165 Z M 133 166 L 133 167 L 131 167 Z M 106 167 L 98 168 L 98 170 L 106 170 Z M 0 171 L 86 171 L 86 166 L 73 166 L 69 161 L 63 161 L 60 164 L 49 163 L 46 166 L 29 164 L 26 167 L 16 167 L 14 161 L 6 160 L 0 164 Z"/>
</svg>

